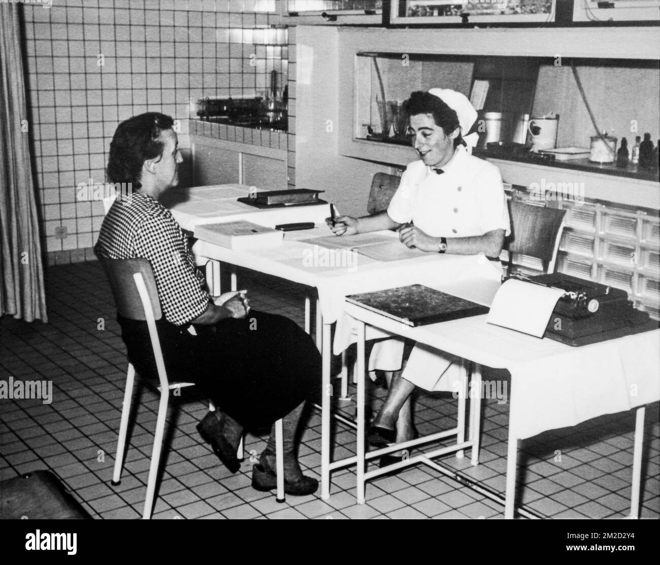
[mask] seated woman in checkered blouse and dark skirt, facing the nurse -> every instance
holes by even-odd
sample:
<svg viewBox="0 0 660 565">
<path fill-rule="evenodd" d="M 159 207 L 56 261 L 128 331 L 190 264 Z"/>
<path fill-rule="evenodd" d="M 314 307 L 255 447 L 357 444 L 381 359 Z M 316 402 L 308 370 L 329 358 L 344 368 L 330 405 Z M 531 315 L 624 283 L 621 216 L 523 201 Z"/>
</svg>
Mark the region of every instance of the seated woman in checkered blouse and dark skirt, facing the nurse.
<svg viewBox="0 0 660 565">
<path fill-rule="evenodd" d="M 282 316 L 249 310 L 245 295 L 213 298 L 195 269 L 187 238 L 158 198 L 178 184 L 182 162 L 169 116 L 149 112 L 123 121 L 110 144 L 108 182 L 132 183 L 106 216 L 95 251 L 110 259 L 149 259 L 163 311 L 158 334 L 169 374 L 199 383 L 218 407 L 197 426 L 220 460 L 238 471 L 243 428 L 284 420 L 287 494 L 315 492 L 304 477 L 294 437 L 305 400 L 320 390 L 321 357 L 310 337 Z M 246 315 L 249 312 L 249 317 Z M 156 376 L 144 321 L 118 316 L 129 360 L 143 376 Z M 253 467 L 252 486 L 275 488 L 275 432 Z"/>
</svg>

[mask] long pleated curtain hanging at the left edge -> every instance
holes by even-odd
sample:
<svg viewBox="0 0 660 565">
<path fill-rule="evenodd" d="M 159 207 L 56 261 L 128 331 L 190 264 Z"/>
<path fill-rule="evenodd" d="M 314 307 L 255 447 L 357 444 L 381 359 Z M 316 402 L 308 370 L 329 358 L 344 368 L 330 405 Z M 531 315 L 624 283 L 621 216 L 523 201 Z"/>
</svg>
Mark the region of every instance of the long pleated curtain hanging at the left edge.
<svg viewBox="0 0 660 565">
<path fill-rule="evenodd" d="M 18 5 L 0 3 L 0 316 L 46 315 Z"/>
</svg>

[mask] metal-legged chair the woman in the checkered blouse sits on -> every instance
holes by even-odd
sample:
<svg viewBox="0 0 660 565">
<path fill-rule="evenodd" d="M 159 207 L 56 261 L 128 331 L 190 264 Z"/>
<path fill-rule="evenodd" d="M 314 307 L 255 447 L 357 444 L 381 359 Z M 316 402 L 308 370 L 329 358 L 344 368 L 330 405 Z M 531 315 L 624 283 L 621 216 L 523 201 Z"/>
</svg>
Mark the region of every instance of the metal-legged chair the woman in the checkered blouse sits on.
<svg viewBox="0 0 660 565">
<path fill-rule="evenodd" d="M 158 405 L 158 417 L 156 418 L 156 432 L 154 435 L 154 446 L 151 452 L 151 464 L 149 467 L 149 479 L 147 480 L 147 496 L 143 519 L 149 519 L 152 514 L 154 495 L 156 491 L 156 477 L 158 464 L 160 463 L 160 451 L 162 438 L 165 430 L 165 418 L 167 415 L 170 390 L 193 386 L 191 382 L 170 382 L 160 348 L 160 339 L 156 329 L 156 321 L 162 317 L 158 289 L 154 279 L 151 265 L 147 259 L 106 259 L 99 257 L 106 275 L 110 281 L 112 294 L 115 298 L 117 313 L 123 317 L 133 320 L 147 321 L 151 346 L 156 361 L 158 380 L 160 386 L 160 404 Z M 115 459 L 112 484 L 117 485 L 121 479 L 123 467 L 124 449 L 128 430 L 128 418 L 131 412 L 131 401 L 133 399 L 133 383 L 135 382 L 135 368 L 129 362 L 126 374 L 126 389 L 124 392 L 123 406 L 121 409 L 121 423 L 119 424 L 119 438 L 117 440 L 117 456 Z M 277 500 L 284 501 L 284 459 L 282 456 L 282 420 L 275 422 L 276 457 L 277 457 Z"/>
</svg>

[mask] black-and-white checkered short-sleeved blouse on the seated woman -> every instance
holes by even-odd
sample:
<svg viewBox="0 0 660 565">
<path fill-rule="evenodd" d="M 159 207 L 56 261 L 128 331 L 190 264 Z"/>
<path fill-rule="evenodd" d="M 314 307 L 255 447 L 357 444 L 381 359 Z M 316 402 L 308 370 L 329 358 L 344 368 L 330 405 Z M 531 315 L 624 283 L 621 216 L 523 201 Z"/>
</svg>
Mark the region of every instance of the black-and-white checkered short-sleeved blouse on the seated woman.
<svg viewBox="0 0 660 565">
<path fill-rule="evenodd" d="M 183 325 L 209 305 L 204 276 L 172 213 L 143 193 L 117 199 L 103 220 L 97 255 L 109 259 L 149 259 L 165 318 Z"/>
</svg>

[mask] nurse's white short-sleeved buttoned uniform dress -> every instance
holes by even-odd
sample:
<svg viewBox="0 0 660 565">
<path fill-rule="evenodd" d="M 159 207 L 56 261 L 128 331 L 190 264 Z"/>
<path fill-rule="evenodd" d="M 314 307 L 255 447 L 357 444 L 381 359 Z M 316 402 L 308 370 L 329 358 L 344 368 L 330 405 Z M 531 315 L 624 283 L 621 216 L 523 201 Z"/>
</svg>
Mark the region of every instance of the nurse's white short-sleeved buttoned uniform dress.
<svg viewBox="0 0 660 565">
<path fill-rule="evenodd" d="M 437 174 L 422 161 L 409 164 L 387 214 L 401 224 L 413 222 L 436 238 L 482 236 L 497 229 L 510 234 L 506 196 L 496 166 L 459 146 L 443 170 Z M 499 276 L 500 261 L 492 263 L 494 276 Z M 369 368 L 396 370 L 401 367 L 402 354 L 403 341 L 399 339 L 376 343 Z M 456 361 L 436 349 L 415 345 L 403 378 L 426 390 L 452 390 L 458 375 Z"/>
</svg>

